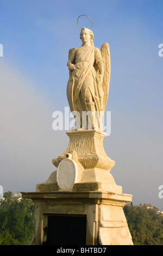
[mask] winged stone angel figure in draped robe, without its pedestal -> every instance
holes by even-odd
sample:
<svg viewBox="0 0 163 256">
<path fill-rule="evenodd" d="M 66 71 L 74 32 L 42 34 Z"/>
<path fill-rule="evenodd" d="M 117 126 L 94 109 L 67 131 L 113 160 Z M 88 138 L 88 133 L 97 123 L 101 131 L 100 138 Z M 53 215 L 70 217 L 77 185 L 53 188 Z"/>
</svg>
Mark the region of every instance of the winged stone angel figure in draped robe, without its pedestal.
<svg viewBox="0 0 163 256">
<path fill-rule="evenodd" d="M 105 42 L 99 50 L 93 44 L 93 37 L 90 28 L 83 27 L 80 32 L 82 46 L 68 53 L 67 99 L 76 120 L 76 130 L 90 127 L 103 130 L 102 116 L 109 94 L 110 48 Z"/>
</svg>

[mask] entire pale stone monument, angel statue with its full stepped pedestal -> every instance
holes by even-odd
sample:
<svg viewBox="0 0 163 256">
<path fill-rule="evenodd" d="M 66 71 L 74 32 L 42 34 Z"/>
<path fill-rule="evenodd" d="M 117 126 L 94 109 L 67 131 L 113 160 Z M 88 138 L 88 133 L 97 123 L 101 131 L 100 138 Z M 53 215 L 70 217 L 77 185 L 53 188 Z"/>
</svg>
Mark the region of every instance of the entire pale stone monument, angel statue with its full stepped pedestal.
<svg viewBox="0 0 163 256">
<path fill-rule="evenodd" d="M 63 154 L 52 160 L 57 170 L 55 169 L 45 182 L 36 185 L 36 192 L 22 192 L 23 198 L 30 198 L 36 204 L 36 227 L 32 241 L 34 245 L 61 245 L 63 241 L 66 245 L 71 245 L 71 241 L 75 245 L 133 245 L 123 212 L 124 205 L 131 202 L 132 196 L 122 194 L 122 186 L 116 185 L 110 173 L 115 161 L 106 155 L 103 147 L 106 134 L 101 124 L 97 130 L 95 126 L 105 111 L 108 99 L 109 45 L 105 43 L 99 50 L 93 45 L 93 33 L 90 28 L 81 29 L 82 47 L 71 49 L 69 52 L 67 65 L 70 78 L 67 97 L 75 119 L 78 113 L 82 121 L 83 112 L 89 112 L 88 118 L 91 118 L 93 112 L 97 114 L 92 120 L 93 129 L 83 129 L 83 125 L 77 127 L 77 124 L 75 130 L 66 132 L 70 138 L 68 147 Z M 76 119 L 76 123 L 78 121 L 80 120 Z M 89 125 L 86 128 L 89 128 Z M 53 218 L 50 224 L 49 215 Z M 55 215 L 58 215 L 59 219 L 56 219 Z M 65 216 L 66 220 L 72 219 L 72 216 L 83 216 L 86 223 L 79 228 L 76 228 L 76 225 L 73 228 L 72 222 L 66 224 L 68 233 L 64 234 L 63 240 L 62 236 L 57 237 L 57 231 Z M 54 232 L 49 232 L 49 227 L 54 229 Z M 81 240 L 79 235 L 81 232 L 84 240 Z M 67 235 L 70 236 L 68 242 Z"/>
</svg>

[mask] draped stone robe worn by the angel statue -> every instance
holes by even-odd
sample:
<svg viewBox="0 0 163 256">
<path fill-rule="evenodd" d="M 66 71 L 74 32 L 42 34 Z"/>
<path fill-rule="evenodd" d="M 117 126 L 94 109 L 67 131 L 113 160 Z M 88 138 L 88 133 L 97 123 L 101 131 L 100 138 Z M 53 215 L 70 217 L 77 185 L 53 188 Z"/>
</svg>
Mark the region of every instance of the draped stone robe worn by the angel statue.
<svg viewBox="0 0 163 256">
<path fill-rule="evenodd" d="M 75 69 L 70 71 L 67 83 L 67 99 L 71 112 L 78 111 L 80 113 L 82 124 L 82 112 L 89 111 L 89 104 L 95 106 L 96 114 L 100 119 L 99 84 L 96 82 L 97 73 L 94 65 L 98 66 L 98 62 L 103 61 L 103 59 L 101 51 L 95 46 L 79 47 L 74 51 L 76 51 Z M 86 98 L 87 90 L 91 94 L 89 101 Z"/>
</svg>

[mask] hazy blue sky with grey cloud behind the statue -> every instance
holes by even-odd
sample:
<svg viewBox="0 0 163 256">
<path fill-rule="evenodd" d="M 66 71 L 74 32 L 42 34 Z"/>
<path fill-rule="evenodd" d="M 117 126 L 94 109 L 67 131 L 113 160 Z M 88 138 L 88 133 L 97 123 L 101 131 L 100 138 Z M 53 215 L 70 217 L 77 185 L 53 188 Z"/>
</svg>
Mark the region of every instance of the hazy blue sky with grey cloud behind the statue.
<svg viewBox="0 0 163 256">
<path fill-rule="evenodd" d="M 110 45 L 111 80 L 104 138 L 111 170 L 133 204 L 163 211 L 162 0 L 0 0 L 0 185 L 3 191 L 35 191 L 56 169 L 66 131 L 52 129 L 54 111 L 68 106 L 68 50 L 79 47 L 79 15 L 93 21 L 94 44 Z M 89 19 L 80 19 L 90 27 Z"/>
</svg>

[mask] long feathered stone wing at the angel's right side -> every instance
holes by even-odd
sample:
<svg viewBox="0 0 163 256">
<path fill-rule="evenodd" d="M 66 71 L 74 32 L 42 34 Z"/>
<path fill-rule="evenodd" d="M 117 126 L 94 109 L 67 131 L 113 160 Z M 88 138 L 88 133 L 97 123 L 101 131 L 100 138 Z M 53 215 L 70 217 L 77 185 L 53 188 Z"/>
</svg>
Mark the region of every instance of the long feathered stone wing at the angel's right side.
<svg viewBox="0 0 163 256">
<path fill-rule="evenodd" d="M 109 95 L 109 83 L 110 83 L 110 47 L 108 42 L 105 42 L 101 47 L 101 54 L 104 60 L 104 78 L 102 83 L 102 88 L 104 92 L 103 96 L 103 107 L 102 110 L 105 111 L 106 103 Z"/>
</svg>

